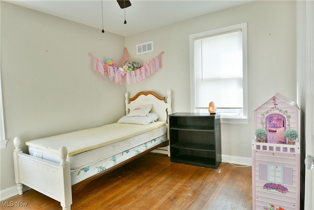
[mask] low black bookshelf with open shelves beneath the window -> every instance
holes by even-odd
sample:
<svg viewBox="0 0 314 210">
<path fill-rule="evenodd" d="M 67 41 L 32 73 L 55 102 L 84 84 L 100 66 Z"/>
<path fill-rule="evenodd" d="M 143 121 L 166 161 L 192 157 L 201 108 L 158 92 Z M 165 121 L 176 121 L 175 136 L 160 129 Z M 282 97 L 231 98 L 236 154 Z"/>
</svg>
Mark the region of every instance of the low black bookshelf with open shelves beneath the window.
<svg viewBox="0 0 314 210">
<path fill-rule="evenodd" d="M 169 129 L 171 162 L 218 168 L 220 115 L 174 113 L 169 116 Z"/>
</svg>

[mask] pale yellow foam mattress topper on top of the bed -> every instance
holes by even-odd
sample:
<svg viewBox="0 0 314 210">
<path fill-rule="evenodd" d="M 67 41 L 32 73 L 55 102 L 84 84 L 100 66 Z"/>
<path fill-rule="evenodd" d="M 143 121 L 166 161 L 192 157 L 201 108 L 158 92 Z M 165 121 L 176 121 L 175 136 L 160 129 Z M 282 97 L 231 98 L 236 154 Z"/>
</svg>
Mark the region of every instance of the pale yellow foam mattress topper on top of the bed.
<svg viewBox="0 0 314 210">
<path fill-rule="evenodd" d="M 68 156 L 73 156 L 83 151 L 93 150 L 136 136 L 164 124 L 166 123 L 161 121 L 152 122 L 147 125 L 112 123 L 101 127 L 27 141 L 26 145 L 56 154 L 64 146 L 68 150 Z"/>
</svg>

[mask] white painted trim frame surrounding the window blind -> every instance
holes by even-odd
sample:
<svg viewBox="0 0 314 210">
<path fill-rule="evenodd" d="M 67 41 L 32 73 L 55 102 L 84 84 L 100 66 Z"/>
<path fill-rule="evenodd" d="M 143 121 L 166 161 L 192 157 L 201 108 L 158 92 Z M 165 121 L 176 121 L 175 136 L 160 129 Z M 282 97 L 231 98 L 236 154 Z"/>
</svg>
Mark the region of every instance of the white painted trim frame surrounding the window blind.
<svg viewBox="0 0 314 210">
<path fill-rule="evenodd" d="M 189 35 L 189 53 L 190 53 L 190 100 L 191 112 L 195 112 L 195 73 L 194 73 L 194 39 L 218 35 L 229 31 L 242 30 L 242 52 L 243 52 L 243 116 L 240 118 L 222 117 L 221 123 L 227 124 L 248 124 L 248 35 L 247 23 L 240 23 L 232 26 L 227 26 L 219 29 L 203 31 Z"/>
</svg>

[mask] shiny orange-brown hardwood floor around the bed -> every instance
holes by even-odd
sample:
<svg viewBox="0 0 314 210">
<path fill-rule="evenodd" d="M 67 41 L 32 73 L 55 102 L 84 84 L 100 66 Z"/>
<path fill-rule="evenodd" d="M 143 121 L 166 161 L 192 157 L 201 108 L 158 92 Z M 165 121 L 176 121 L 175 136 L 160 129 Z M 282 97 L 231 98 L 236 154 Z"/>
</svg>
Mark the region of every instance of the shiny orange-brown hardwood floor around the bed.
<svg viewBox="0 0 314 210">
<path fill-rule="evenodd" d="M 0 209 L 62 208 L 59 202 L 28 190 L 1 201 Z M 149 153 L 90 182 L 73 196 L 71 209 L 251 210 L 252 168 L 221 163 L 214 170 L 173 163 L 167 155 Z"/>
</svg>

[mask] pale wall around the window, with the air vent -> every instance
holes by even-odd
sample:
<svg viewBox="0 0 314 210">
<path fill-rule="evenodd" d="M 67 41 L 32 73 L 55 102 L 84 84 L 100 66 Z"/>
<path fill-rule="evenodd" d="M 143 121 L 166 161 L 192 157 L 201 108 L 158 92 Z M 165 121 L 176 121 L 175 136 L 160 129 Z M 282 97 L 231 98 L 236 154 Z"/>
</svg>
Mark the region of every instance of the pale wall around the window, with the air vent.
<svg viewBox="0 0 314 210">
<path fill-rule="evenodd" d="M 159 52 L 162 69 L 137 85 L 139 90 L 173 92 L 173 111 L 190 112 L 189 34 L 248 23 L 249 124 L 221 125 L 222 154 L 251 158 L 254 137 L 254 109 L 277 92 L 297 101 L 296 90 L 296 3 L 255 1 L 181 23 L 127 36 L 130 57 L 148 60 Z M 154 52 L 136 55 L 136 44 L 154 41 Z M 209 90 L 214 91 L 214 90 Z"/>
</svg>

